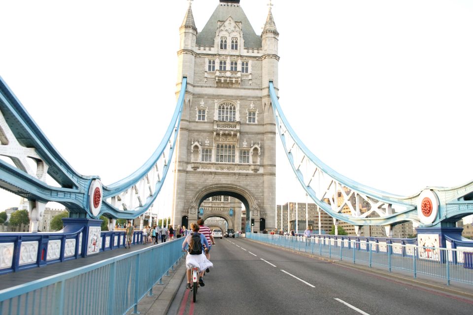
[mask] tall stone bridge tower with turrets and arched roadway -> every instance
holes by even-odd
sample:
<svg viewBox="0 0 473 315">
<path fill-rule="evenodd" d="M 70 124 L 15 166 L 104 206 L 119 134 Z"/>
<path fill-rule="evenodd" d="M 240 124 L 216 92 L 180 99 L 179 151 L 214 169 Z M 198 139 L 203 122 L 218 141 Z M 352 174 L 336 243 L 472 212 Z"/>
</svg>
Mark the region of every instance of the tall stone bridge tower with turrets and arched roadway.
<svg viewBox="0 0 473 315">
<path fill-rule="evenodd" d="M 219 0 L 201 32 L 189 3 L 179 31 L 176 91 L 185 76 L 187 92 L 173 223 L 196 221 L 205 199 L 227 195 L 242 202 L 254 231 L 275 228 L 276 128 L 269 81 L 277 87 L 279 33 L 271 8 L 261 36 L 240 0 Z M 228 217 L 203 214 L 209 215 Z"/>
</svg>

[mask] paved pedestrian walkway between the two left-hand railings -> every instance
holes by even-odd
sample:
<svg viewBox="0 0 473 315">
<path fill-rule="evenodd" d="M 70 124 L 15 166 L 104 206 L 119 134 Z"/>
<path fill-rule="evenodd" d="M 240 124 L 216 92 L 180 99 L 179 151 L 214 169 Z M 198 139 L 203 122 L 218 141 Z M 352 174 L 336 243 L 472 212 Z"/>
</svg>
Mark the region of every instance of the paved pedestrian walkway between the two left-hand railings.
<svg viewBox="0 0 473 315">
<path fill-rule="evenodd" d="M 90 255 L 85 258 L 71 259 L 65 262 L 58 262 L 55 264 L 46 265 L 44 267 L 35 267 L 28 270 L 1 275 L 0 290 L 20 284 L 25 284 L 27 282 L 39 280 L 49 276 L 54 276 L 65 271 L 87 266 L 95 262 L 105 260 L 107 258 L 119 256 L 124 253 L 139 251 L 149 246 L 151 245 L 139 244 L 132 246 L 130 249 L 120 248 L 113 251 L 100 252 L 98 254 Z"/>
</svg>

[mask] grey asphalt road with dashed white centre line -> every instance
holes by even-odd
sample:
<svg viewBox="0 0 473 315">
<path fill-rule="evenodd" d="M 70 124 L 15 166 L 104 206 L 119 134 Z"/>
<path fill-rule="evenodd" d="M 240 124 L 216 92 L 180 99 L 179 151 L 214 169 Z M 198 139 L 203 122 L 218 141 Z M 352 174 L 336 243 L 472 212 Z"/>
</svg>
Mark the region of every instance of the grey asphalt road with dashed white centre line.
<svg viewBox="0 0 473 315">
<path fill-rule="evenodd" d="M 197 303 L 184 279 L 169 315 L 473 314 L 473 300 L 245 239 L 216 240 Z"/>
</svg>

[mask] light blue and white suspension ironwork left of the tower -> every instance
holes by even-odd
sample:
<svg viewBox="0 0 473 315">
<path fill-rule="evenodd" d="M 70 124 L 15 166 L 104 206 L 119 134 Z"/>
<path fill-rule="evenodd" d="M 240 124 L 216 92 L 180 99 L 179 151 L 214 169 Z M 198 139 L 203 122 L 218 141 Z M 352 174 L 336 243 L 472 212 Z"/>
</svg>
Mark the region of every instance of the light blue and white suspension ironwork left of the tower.
<svg viewBox="0 0 473 315">
<path fill-rule="evenodd" d="M 169 161 L 177 140 L 186 86 L 187 78 L 184 77 L 174 114 L 161 144 L 133 174 L 114 184 L 102 187 L 100 213 L 94 215 L 91 210 L 89 190 L 93 182 L 99 180 L 100 177 L 83 176 L 77 173 L 59 154 L 0 77 L 0 118 L 2 118 L 0 122 L 6 123 L 7 126 L 4 127 L 8 127 L 9 132 L 11 130 L 15 141 L 23 149 L 28 150 L 29 156 L 33 157 L 37 163 L 37 172 L 32 174 L 27 170 L 27 163 L 18 157 L 11 157 L 17 167 L 0 160 L 0 187 L 28 200 L 44 203 L 59 202 L 78 217 L 99 218 L 105 215 L 109 218 L 134 219 L 142 215 L 156 200 L 168 174 Z M 6 144 L 4 142 L 8 142 L 8 139 L 1 138 L 0 141 L 1 144 Z M 149 183 L 148 174 L 153 168 L 158 169 L 158 167 L 162 167 L 162 170 L 157 174 L 156 184 L 150 184 L 150 192 L 144 198 L 138 196 L 137 206 L 133 209 L 123 209 L 124 207 L 120 209 L 120 195 L 128 189 L 137 190 L 136 185 L 142 181 Z M 47 185 L 46 173 L 61 187 Z"/>
</svg>

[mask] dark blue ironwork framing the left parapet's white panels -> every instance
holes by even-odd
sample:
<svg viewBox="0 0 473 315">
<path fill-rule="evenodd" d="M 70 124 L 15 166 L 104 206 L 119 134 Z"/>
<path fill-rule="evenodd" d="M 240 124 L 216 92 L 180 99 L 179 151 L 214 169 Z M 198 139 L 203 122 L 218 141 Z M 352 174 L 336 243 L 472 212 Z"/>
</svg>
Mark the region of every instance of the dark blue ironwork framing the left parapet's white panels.
<svg viewBox="0 0 473 315">
<path fill-rule="evenodd" d="M 132 245 L 143 243 L 142 234 L 142 231 L 135 231 Z M 82 237 L 82 240 L 80 240 L 80 237 Z M 73 249 L 69 248 L 68 250 L 66 250 L 68 240 L 74 240 Z M 53 241 L 60 241 L 60 253 L 57 257 L 50 259 L 48 258 L 48 245 Z M 28 253 L 29 255 L 34 255 L 33 261 L 20 264 L 20 253 L 22 252 L 22 244 L 25 242 L 37 242 L 37 250 L 35 252 Z M 0 233 L 0 248 L 2 246 L 10 244 L 13 245 L 13 255 L 11 258 L 11 262 L 9 265 L 0 265 L 0 275 L 49 265 L 56 262 L 63 262 L 70 259 L 77 259 L 79 257 L 85 257 L 87 253 L 87 235 L 84 232 L 83 227 L 73 232 Z M 100 246 L 100 252 L 124 248 L 125 231 L 101 232 L 101 240 L 98 246 Z M 7 252 L 9 251 L 1 252 L 2 261 L 9 261 L 9 257 L 6 256 Z"/>
</svg>

